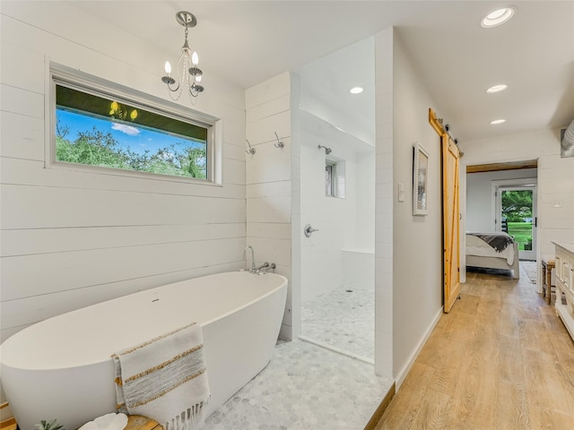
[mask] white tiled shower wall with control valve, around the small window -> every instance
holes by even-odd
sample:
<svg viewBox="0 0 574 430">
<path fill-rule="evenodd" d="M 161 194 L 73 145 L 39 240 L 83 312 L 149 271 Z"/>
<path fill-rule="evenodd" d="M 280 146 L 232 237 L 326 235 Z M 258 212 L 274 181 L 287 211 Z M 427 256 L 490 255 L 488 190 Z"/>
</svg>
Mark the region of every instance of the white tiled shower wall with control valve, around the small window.
<svg viewBox="0 0 574 430">
<path fill-rule="evenodd" d="M 309 223 L 319 231 L 310 237 L 301 237 L 301 301 L 343 288 L 343 252 L 345 249 L 370 247 L 374 252 L 374 148 L 368 147 L 354 136 L 337 130 L 316 116 L 300 112 L 300 180 L 301 226 Z M 317 145 L 332 150 L 326 154 Z M 370 162 L 363 160 L 358 150 L 369 150 Z M 344 164 L 344 198 L 325 195 L 326 159 Z M 364 169 L 360 176 L 360 168 Z M 363 183 L 359 182 L 359 178 Z M 361 189 L 371 193 L 360 193 Z M 364 200 L 364 202 L 363 202 Z M 359 210 L 362 209 L 362 211 Z M 369 213 L 370 210 L 370 213 Z M 360 224 L 361 220 L 370 222 Z M 359 235 L 359 232 L 370 231 Z M 358 237 L 369 236 L 364 244 Z M 371 275 L 373 273 L 371 272 Z M 373 277 L 374 278 L 374 277 Z M 370 282 L 372 284 L 372 281 Z"/>
</svg>

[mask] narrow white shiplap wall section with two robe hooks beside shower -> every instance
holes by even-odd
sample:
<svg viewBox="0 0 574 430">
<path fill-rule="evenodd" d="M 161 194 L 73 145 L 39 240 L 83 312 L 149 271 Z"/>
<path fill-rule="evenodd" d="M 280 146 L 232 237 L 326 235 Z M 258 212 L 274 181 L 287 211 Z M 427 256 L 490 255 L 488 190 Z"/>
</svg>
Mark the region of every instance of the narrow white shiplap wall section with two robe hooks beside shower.
<svg viewBox="0 0 574 430">
<path fill-rule="evenodd" d="M 274 262 L 289 282 L 281 337 L 292 337 L 291 282 L 291 73 L 282 73 L 245 91 L 248 154 L 247 243 L 257 264 Z M 284 147 L 277 148 L 279 141 Z M 246 148 L 248 147 L 245 143 Z"/>
</svg>

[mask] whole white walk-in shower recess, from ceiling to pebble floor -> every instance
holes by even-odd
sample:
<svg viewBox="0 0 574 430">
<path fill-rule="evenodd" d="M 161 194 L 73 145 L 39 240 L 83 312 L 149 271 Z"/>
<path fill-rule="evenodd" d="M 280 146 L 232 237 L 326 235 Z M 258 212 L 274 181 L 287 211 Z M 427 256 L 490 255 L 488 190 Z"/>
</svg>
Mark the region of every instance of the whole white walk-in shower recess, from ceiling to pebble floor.
<svg viewBox="0 0 574 430">
<path fill-rule="evenodd" d="M 370 38 L 298 71 L 300 228 L 309 224 L 317 231 L 300 233 L 300 338 L 369 363 L 375 337 L 374 60 Z M 360 98 L 329 85 L 349 76 L 364 87 Z"/>
</svg>

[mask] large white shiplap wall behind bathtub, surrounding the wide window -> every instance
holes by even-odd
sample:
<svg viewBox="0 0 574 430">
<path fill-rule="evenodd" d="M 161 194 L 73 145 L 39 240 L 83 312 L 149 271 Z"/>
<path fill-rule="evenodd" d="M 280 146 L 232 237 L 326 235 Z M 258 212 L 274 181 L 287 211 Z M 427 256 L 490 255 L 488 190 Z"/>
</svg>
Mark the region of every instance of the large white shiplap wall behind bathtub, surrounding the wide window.
<svg viewBox="0 0 574 430">
<path fill-rule="evenodd" d="M 11 2 L 1 20 L 2 340 L 85 305 L 243 267 L 244 91 L 204 70 L 194 108 L 222 118 L 222 186 L 45 168 L 48 58 L 169 99 L 166 53 L 70 3 Z"/>
</svg>

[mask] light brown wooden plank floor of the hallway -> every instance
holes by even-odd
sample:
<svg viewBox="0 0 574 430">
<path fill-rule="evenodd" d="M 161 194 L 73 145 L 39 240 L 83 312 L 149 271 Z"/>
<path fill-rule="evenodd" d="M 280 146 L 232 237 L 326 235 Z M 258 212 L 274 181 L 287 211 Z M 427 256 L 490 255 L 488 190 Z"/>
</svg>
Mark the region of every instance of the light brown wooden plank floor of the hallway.
<svg viewBox="0 0 574 430">
<path fill-rule="evenodd" d="M 375 430 L 574 429 L 574 343 L 524 271 L 468 273 Z"/>
</svg>

